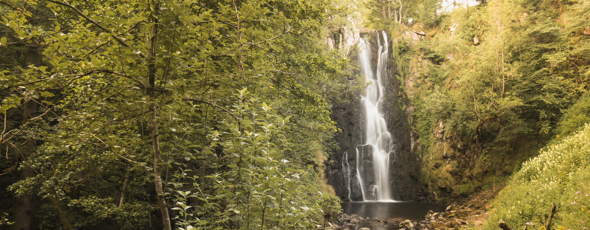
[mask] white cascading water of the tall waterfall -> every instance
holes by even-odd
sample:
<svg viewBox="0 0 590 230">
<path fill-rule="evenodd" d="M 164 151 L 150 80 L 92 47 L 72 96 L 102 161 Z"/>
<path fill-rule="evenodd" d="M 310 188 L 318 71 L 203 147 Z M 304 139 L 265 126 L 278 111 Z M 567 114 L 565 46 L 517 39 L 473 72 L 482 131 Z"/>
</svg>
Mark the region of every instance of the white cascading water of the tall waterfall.
<svg viewBox="0 0 590 230">
<path fill-rule="evenodd" d="M 387 72 L 386 65 L 388 62 L 389 44 L 385 31 L 382 31 L 381 34 L 382 36 L 379 36 L 379 33 L 377 33 L 379 49 L 376 54 L 378 55 L 377 66 L 374 73 L 371 64 L 371 44 L 363 38 L 360 38 L 359 41 L 360 69 L 365 75 L 367 82 L 366 95 L 361 96 L 362 104 L 365 105 L 366 141 L 364 145 L 359 145 L 356 148 L 356 175 L 353 178 L 356 177 L 356 181 L 359 183 L 363 201 L 393 201 L 389 179 L 389 156 L 394 155 L 391 148 L 392 136 L 388 132 L 387 124 L 381 111 L 382 104 L 385 102 L 384 80 Z M 383 44 L 381 43 L 381 39 L 383 39 Z M 372 160 L 368 160 L 369 163 L 363 162 L 365 153 L 359 151 L 359 148 L 371 149 L 370 154 L 372 155 Z M 346 156 L 348 157 L 348 154 Z M 372 167 L 369 165 L 371 163 Z M 348 160 L 346 164 L 348 165 Z M 361 170 L 365 168 L 372 168 L 373 170 L 372 172 L 370 170 Z M 350 169 L 347 168 L 347 171 L 347 176 L 350 180 L 352 179 L 350 178 Z M 366 183 L 368 183 L 368 186 L 363 184 L 364 178 L 367 178 Z M 349 194 L 352 193 L 350 191 L 350 181 L 348 182 L 348 188 Z"/>
</svg>

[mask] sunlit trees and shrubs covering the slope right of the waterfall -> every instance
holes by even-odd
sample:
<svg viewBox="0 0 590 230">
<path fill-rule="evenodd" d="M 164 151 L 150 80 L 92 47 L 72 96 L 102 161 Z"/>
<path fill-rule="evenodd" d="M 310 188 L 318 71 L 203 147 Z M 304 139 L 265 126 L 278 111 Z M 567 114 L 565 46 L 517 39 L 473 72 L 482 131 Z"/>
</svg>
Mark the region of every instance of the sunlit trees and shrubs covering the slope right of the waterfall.
<svg viewBox="0 0 590 230">
<path fill-rule="evenodd" d="M 457 197 L 470 190 L 463 185 L 491 186 L 490 178 L 506 178 L 535 155 L 556 127 L 570 125 L 563 122 L 584 120 L 572 114 L 558 125 L 589 86 L 588 18 L 579 12 L 590 8 L 561 4 L 558 11 L 552 1 L 487 1 L 455 10 L 438 24 L 444 27 L 425 28 L 434 35 L 418 42 L 410 62 L 418 74 L 411 99 L 413 119 L 425 122 L 415 124 L 431 192 Z M 437 165 L 452 161 L 461 162 L 461 173 Z"/>
</svg>

